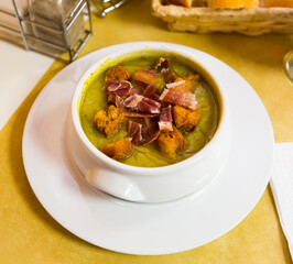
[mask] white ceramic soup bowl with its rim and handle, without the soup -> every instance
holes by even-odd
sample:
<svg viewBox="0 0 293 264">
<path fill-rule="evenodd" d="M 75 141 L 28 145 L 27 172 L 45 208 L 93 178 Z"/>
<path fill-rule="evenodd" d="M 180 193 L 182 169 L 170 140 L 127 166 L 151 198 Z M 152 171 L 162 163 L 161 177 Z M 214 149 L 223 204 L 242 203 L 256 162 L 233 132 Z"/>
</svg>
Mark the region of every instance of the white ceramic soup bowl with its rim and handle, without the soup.
<svg viewBox="0 0 293 264">
<path fill-rule="evenodd" d="M 78 101 L 85 81 L 99 67 L 111 65 L 117 58 L 153 51 L 176 54 L 181 59 L 188 62 L 189 66 L 193 65 L 192 67 L 195 67 L 209 82 L 214 82 L 211 87 L 218 90 L 220 121 L 209 143 L 192 157 L 164 167 L 135 167 L 113 161 L 90 143 L 79 122 Z M 87 182 L 107 194 L 139 202 L 170 201 L 203 189 L 224 167 L 229 155 L 230 136 L 225 84 L 209 74 L 208 65 L 203 59 L 197 61 L 193 53 L 182 48 L 170 48 L 160 43 L 148 46 L 139 43 L 95 63 L 76 86 L 66 127 L 68 155 Z"/>
</svg>

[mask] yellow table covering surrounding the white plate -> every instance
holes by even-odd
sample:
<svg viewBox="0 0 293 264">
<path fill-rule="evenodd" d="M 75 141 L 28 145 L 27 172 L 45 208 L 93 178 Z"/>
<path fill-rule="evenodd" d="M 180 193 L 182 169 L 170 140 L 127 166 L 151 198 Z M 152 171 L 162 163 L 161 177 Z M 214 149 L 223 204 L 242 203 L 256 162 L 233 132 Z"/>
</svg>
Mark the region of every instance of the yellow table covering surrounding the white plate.
<svg viewBox="0 0 293 264">
<path fill-rule="evenodd" d="M 242 75 L 263 101 L 275 142 L 293 141 L 293 85 L 282 69 L 292 35 L 249 37 L 167 31 L 149 0 L 132 0 L 106 19 L 94 15 L 94 36 L 80 56 L 112 44 L 164 41 L 198 48 Z M 91 245 L 61 227 L 35 198 L 22 162 L 22 133 L 36 96 L 65 65 L 54 63 L 0 131 L 0 263 L 292 263 L 270 187 L 248 217 L 221 238 L 182 253 L 135 256 Z M 249 107 L 249 106 L 247 106 Z"/>
</svg>

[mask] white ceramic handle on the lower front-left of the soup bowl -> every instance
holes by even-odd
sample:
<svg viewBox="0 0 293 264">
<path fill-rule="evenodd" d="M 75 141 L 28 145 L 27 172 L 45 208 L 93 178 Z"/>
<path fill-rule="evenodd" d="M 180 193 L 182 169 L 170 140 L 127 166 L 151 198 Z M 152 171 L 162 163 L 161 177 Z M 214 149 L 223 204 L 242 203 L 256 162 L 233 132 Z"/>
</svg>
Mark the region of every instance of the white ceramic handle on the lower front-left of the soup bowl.
<svg viewBox="0 0 293 264">
<path fill-rule="evenodd" d="M 140 189 L 122 174 L 107 168 L 91 168 L 85 173 L 86 180 L 94 187 L 130 201 L 144 201 Z"/>
</svg>

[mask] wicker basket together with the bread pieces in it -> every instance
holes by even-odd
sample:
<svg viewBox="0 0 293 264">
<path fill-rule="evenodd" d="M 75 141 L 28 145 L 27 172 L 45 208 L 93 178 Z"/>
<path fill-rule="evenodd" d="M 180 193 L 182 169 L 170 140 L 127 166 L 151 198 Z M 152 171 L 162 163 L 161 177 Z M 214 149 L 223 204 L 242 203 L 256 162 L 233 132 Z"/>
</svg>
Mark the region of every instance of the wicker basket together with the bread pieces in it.
<svg viewBox="0 0 293 264">
<path fill-rule="evenodd" d="M 173 31 L 293 33 L 293 0 L 152 0 L 152 10 Z"/>
</svg>

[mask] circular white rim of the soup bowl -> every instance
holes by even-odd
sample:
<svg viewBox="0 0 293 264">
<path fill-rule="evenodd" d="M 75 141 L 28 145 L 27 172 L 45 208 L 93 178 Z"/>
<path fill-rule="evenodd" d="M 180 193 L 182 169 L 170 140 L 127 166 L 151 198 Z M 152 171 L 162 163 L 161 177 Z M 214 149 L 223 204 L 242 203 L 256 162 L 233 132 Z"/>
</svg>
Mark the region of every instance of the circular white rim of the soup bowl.
<svg viewBox="0 0 293 264">
<path fill-rule="evenodd" d="M 216 131 L 211 138 L 211 140 L 198 152 L 196 152 L 195 154 L 193 154 L 191 157 L 183 160 L 178 163 L 175 164 L 171 164 L 171 165 L 166 165 L 166 166 L 161 166 L 161 167 L 139 167 L 139 166 L 133 166 L 133 165 L 128 165 L 128 164 L 123 164 L 120 163 L 116 160 L 112 160 L 111 157 L 107 156 L 106 154 L 104 154 L 101 151 L 99 151 L 86 136 L 82 124 L 80 124 L 80 120 L 79 120 L 79 113 L 78 113 L 78 100 L 79 100 L 79 96 L 80 92 L 86 88 L 86 86 L 84 86 L 85 81 L 89 78 L 90 74 L 94 73 L 100 65 L 102 65 L 104 63 L 108 63 L 111 61 L 115 61 L 117 58 L 119 58 L 119 56 L 123 56 L 123 55 L 129 55 L 131 56 L 131 54 L 135 53 L 135 52 L 145 52 L 145 51 L 150 51 L 150 52 L 158 52 L 158 53 L 165 53 L 165 54 L 176 54 L 178 55 L 181 58 L 183 59 L 187 59 L 193 62 L 194 64 L 198 65 L 199 68 L 202 68 L 204 72 L 206 72 L 206 74 L 209 75 L 209 77 L 213 79 L 213 81 L 217 85 L 218 87 L 218 96 L 219 98 L 219 103 L 221 103 L 220 108 L 221 108 L 221 116 L 219 117 L 219 123 L 216 128 Z M 127 57 L 127 56 L 126 56 Z M 200 61 L 200 59 L 199 59 Z M 194 164 L 197 160 L 200 160 L 203 156 L 206 155 L 206 153 L 208 153 L 210 151 L 210 148 L 213 147 L 213 145 L 215 144 L 216 141 L 219 140 L 220 134 L 224 131 L 224 127 L 226 127 L 226 122 L 227 122 L 227 100 L 226 100 L 226 96 L 225 96 L 225 91 L 221 85 L 221 81 L 219 81 L 217 79 L 216 76 L 214 76 L 214 74 L 211 74 L 208 70 L 207 65 L 205 65 L 204 62 L 198 62 L 194 54 L 189 51 L 184 51 L 182 48 L 178 47 L 170 47 L 167 45 L 162 45 L 162 44 L 143 44 L 143 43 L 139 43 L 137 44 L 134 47 L 128 47 L 128 48 L 123 48 L 122 51 L 116 51 L 112 52 L 106 56 L 104 56 L 102 58 L 98 59 L 94 65 L 91 65 L 86 72 L 85 74 L 80 77 L 79 81 L 76 85 L 73 98 L 72 98 L 72 121 L 74 124 L 74 129 L 77 133 L 77 135 L 79 136 L 79 139 L 83 141 L 84 145 L 86 146 L 86 148 L 96 157 L 98 157 L 99 160 L 101 160 L 105 164 L 107 164 L 108 166 L 110 166 L 111 169 L 115 169 L 116 172 L 123 172 L 123 173 L 129 173 L 129 174 L 135 174 L 135 175 L 160 175 L 160 174 L 165 174 L 169 170 L 171 172 L 175 172 L 181 168 L 184 168 L 186 166 L 189 166 L 192 164 Z"/>
</svg>

